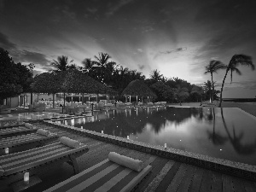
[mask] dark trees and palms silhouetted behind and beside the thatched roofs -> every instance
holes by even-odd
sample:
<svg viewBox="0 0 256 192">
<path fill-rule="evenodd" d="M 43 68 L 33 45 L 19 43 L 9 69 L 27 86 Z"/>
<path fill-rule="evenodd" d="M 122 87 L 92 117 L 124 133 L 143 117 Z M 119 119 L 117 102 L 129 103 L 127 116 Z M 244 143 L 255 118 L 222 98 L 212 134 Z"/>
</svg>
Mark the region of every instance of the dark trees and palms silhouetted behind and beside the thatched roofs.
<svg viewBox="0 0 256 192">
<path fill-rule="evenodd" d="M 116 62 L 111 61 L 110 55 L 102 52 L 95 55 L 93 60 L 85 58 L 82 61 L 82 67 L 77 66 L 73 61 L 69 61 L 66 55 L 58 56 L 56 60 L 51 62 L 51 65 L 54 69 L 50 73 L 58 73 L 76 68 L 115 90 L 119 96 L 131 81 L 139 79 L 143 80 L 156 94 L 157 98 L 154 102 L 166 101 L 179 102 L 181 104 L 181 102 L 202 102 L 210 98 L 213 101 L 217 98 L 217 94 L 220 93 L 220 105 L 227 73 L 231 72 L 232 79 L 234 72 L 241 74 L 237 68 L 239 65 L 249 66 L 254 69 L 252 58 L 247 55 L 234 55 L 227 66 L 221 61 L 210 61 L 207 67 L 205 67 L 205 73 L 211 74 L 211 80 L 207 80 L 202 86 L 198 86 L 177 77 L 166 78 L 157 69 L 153 70 L 149 78 L 146 79 L 143 73 L 131 70 L 128 67 L 122 67 Z M 20 93 L 31 92 L 31 84 L 33 82 L 32 70 L 34 67 L 32 63 L 28 66 L 22 65 L 20 62 L 15 63 L 9 56 L 9 52 L 0 48 L 0 100 L 17 96 Z M 220 69 L 226 69 L 226 73 L 222 88 L 219 91 L 214 89 L 213 73 L 217 73 Z"/>
</svg>

